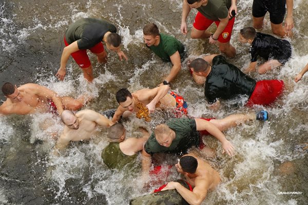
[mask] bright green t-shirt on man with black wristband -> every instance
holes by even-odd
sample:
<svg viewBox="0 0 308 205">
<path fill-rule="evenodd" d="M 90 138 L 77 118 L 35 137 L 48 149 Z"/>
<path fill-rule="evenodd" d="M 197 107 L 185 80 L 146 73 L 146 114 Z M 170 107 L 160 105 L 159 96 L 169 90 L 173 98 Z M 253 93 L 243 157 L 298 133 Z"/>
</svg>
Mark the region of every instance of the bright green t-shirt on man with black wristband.
<svg viewBox="0 0 308 205">
<path fill-rule="evenodd" d="M 164 61 L 170 62 L 170 56 L 179 51 L 180 56 L 184 55 L 184 45 L 175 37 L 160 33 L 158 46 L 146 46 Z"/>
</svg>

